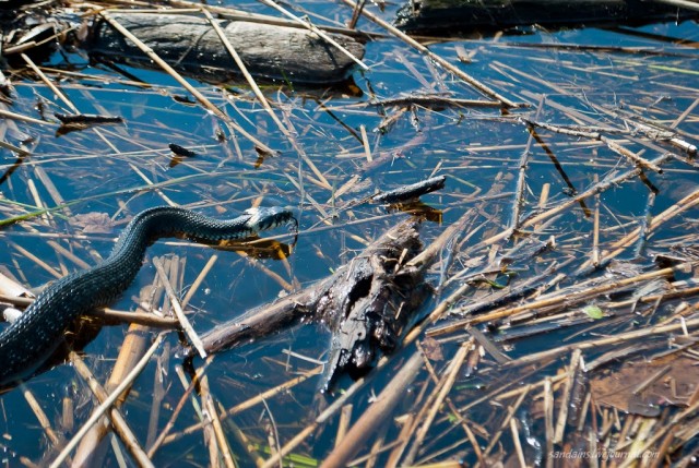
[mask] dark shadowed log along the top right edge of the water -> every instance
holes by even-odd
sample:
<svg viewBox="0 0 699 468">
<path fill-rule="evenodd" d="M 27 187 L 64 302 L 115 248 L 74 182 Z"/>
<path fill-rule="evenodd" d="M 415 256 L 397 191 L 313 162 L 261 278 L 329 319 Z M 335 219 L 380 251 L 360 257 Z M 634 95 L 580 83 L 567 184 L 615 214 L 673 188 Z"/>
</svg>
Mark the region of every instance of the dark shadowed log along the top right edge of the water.
<svg viewBox="0 0 699 468">
<path fill-rule="evenodd" d="M 643 0 L 410 0 L 399 27 L 410 32 L 493 31 L 538 24 L 546 27 L 643 24 L 697 17 L 696 11 Z"/>
</svg>

